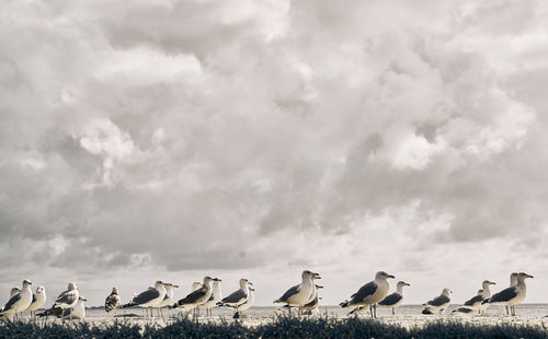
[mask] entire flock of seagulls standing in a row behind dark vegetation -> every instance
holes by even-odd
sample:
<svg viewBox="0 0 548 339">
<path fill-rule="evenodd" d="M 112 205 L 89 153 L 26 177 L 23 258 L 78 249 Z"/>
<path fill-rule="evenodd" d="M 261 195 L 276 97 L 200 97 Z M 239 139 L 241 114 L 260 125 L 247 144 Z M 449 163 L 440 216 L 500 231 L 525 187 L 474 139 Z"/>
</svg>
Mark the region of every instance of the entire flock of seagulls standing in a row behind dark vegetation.
<svg viewBox="0 0 548 339">
<path fill-rule="evenodd" d="M 392 274 L 379 271 L 373 281 L 364 284 L 356 293 L 339 305 L 343 308 L 350 308 L 349 314 L 359 314 L 365 309 L 372 317 L 376 317 L 377 307 L 391 308 L 392 314 L 395 314 L 396 308 L 403 302 L 403 288 L 410 284 L 399 281 L 396 285 L 396 292 L 388 294 L 390 290 L 388 279 L 393 278 Z M 506 315 L 515 316 L 514 306 L 522 303 L 526 295 L 525 279 L 527 278 L 533 278 L 533 276 L 524 272 L 512 273 L 510 287 L 495 294 L 491 294 L 490 291 L 490 287 L 495 283 L 484 280 L 478 294 L 454 309 L 453 313 L 483 314 L 490 305 L 501 305 L 505 306 Z M 292 307 L 298 309 L 298 315 L 318 312 L 321 300 L 318 292 L 323 288 L 316 283 L 319 279 L 321 279 L 319 273 L 309 270 L 302 271 L 301 282 L 288 289 L 274 303 L 283 304 L 289 315 Z M 195 311 L 195 315 L 199 317 L 201 309 L 205 309 L 207 316 L 213 315 L 214 307 L 230 307 L 233 312 L 233 318 L 239 318 L 242 312 L 253 306 L 254 289 L 248 279 L 240 279 L 239 289 L 225 297 L 222 297 L 220 282 L 219 278 L 204 277 L 202 282 L 192 284 L 192 291 L 185 297 L 176 302 L 174 301 L 174 289 L 178 289 L 179 285 L 169 282 L 157 281 L 153 287 L 135 294 L 132 301 L 126 304 L 122 304 L 118 289 L 113 288 L 111 294 L 106 296 L 104 307 L 106 313 L 111 311 L 116 313 L 118 308 L 138 306 L 144 309 L 146 316 L 150 314 L 151 317 L 155 316 L 153 308 L 157 308 L 158 315 L 162 317 L 164 307 L 180 309 L 186 315 Z M 23 280 L 22 289 L 13 288 L 11 290 L 9 301 L 0 308 L 0 319 L 12 320 L 24 312 L 28 312 L 32 317 L 57 316 L 64 319 L 83 319 L 85 317 L 84 302 L 87 300 L 80 294 L 75 282 L 68 284 L 68 289 L 59 294 L 52 307 L 39 314 L 36 314 L 36 311 L 46 303 L 46 290 L 44 287 L 38 287 L 36 293 L 33 293 L 31 284 L 30 280 Z M 441 295 L 423 304 L 422 314 L 442 314 L 449 306 L 452 293 L 449 289 L 443 289 Z"/>
</svg>

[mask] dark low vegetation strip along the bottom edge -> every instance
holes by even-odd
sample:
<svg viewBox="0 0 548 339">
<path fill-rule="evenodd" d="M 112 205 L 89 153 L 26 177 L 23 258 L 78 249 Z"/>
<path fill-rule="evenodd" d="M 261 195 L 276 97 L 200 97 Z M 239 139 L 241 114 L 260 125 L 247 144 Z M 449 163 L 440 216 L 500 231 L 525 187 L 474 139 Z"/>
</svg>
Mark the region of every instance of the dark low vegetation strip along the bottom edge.
<svg viewBox="0 0 548 339">
<path fill-rule="evenodd" d="M 271 324 L 246 327 L 239 322 L 198 324 L 176 320 L 165 327 L 119 322 L 105 325 L 90 323 L 15 322 L 0 324 L 0 338 L 530 338 L 548 339 L 544 327 L 496 325 L 479 326 L 458 322 L 431 323 L 407 329 L 374 319 L 334 319 L 278 317 Z"/>
</svg>

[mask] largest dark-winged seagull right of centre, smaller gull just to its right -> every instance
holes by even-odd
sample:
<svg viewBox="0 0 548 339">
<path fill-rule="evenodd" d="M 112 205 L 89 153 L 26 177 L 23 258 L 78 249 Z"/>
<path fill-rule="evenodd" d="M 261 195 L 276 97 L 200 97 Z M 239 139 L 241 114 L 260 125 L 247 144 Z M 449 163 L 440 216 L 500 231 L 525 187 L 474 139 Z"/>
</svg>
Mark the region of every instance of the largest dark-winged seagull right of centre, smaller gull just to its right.
<svg viewBox="0 0 548 339">
<path fill-rule="evenodd" d="M 350 300 L 346 300 L 339 305 L 341 307 L 354 307 L 353 312 L 358 311 L 364 306 L 369 306 L 369 312 L 372 316 L 377 317 L 377 306 L 376 304 L 385 299 L 390 289 L 388 279 L 395 278 L 392 274 L 388 274 L 385 271 L 379 271 L 375 274 L 375 280 L 369 281 L 364 284 L 356 293 L 352 294 Z"/>
</svg>

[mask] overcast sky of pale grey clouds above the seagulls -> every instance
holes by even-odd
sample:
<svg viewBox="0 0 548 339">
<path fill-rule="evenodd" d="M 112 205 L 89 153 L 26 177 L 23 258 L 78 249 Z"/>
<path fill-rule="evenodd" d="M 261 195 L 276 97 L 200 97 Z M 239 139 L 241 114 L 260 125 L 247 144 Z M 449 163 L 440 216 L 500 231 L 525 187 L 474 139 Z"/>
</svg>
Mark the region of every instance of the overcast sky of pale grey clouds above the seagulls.
<svg viewBox="0 0 548 339">
<path fill-rule="evenodd" d="M 548 302 L 546 1 L 0 3 L 0 291 L 302 269 Z"/>
</svg>

